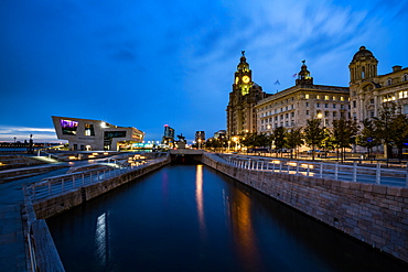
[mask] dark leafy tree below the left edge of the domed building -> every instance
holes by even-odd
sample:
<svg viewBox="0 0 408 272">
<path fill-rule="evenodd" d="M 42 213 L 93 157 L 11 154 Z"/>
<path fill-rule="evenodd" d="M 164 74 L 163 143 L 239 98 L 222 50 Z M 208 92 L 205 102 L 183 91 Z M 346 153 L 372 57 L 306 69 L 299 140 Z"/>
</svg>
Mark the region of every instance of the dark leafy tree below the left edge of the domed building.
<svg viewBox="0 0 408 272">
<path fill-rule="evenodd" d="M 352 119 L 333 120 L 333 138 L 341 149 L 341 159 L 344 161 L 344 151 L 346 148 L 351 148 L 351 144 L 355 142 L 355 137 L 358 132 L 358 124 Z"/>
</svg>

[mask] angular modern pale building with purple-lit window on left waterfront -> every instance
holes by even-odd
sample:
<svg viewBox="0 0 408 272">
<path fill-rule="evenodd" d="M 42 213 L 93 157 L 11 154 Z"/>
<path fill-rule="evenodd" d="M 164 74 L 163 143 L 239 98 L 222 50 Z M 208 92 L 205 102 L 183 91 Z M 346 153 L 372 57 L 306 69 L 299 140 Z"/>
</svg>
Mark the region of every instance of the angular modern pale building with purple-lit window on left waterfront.
<svg viewBox="0 0 408 272">
<path fill-rule="evenodd" d="M 60 140 L 66 140 L 69 150 L 109 150 L 118 151 L 119 145 L 143 141 L 144 133 L 131 127 L 118 127 L 101 120 L 52 117 L 56 135 Z"/>
</svg>

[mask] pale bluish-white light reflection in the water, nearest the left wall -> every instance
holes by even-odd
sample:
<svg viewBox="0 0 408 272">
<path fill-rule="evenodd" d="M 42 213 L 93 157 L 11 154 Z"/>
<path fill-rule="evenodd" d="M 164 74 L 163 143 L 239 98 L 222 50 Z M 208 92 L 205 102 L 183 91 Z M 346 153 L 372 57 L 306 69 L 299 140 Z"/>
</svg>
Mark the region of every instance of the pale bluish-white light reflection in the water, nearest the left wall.
<svg viewBox="0 0 408 272">
<path fill-rule="evenodd" d="M 95 230 L 95 253 L 98 263 L 101 266 L 106 266 L 108 257 L 108 233 L 107 233 L 107 218 L 106 213 L 100 215 L 96 219 L 96 230 Z"/>
</svg>

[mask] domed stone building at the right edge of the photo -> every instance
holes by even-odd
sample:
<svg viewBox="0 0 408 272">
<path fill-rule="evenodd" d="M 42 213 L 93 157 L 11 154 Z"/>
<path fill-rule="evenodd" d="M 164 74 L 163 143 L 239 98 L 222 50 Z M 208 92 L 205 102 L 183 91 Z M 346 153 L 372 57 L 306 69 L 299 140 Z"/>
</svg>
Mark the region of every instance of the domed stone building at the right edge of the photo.
<svg viewBox="0 0 408 272">
<path fill-rule="evenodd" d="M 354 54 L 350 68 L 351 115 L 361 122 L 378 117 L 385 102 L 394 101 L 408 115 L 408 67 L 377 75 L 378 61 L 365 46 Z"/>
</svg>

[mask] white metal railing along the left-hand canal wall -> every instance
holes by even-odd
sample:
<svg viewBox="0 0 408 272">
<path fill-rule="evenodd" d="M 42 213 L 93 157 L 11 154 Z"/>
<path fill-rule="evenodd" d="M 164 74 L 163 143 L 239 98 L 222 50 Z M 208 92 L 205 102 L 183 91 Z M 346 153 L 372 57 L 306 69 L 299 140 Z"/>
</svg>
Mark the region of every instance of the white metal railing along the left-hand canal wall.
<svg viewBox="0 0 408 272">
<path fill-rule="evenodd" d="M 147 167 L 168 160 L 168 156 L 161 156 L 152 160 L 140 161 L 127 166 L 117 165 L 117 167 L 105 167 L 99 170 L 88 170 L 66 175 L 46 177 L 37 183 L 33 183 L 26 188 L 26 193 L 32 202 L 49 198 L 55 195 L 64 194 L 90 184 L 96 184 L 108 178 L 120 176 L 122 174 Z"/>
</svg>

